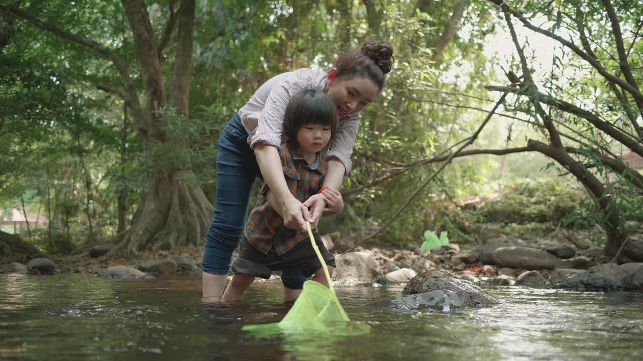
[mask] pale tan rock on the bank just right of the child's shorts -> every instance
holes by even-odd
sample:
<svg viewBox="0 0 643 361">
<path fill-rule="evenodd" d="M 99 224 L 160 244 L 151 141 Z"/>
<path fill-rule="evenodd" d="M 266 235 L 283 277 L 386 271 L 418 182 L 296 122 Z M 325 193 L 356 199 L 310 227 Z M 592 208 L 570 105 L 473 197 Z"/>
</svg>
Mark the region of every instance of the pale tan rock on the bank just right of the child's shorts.
<svg viewBox="0 0 643 361">
<path fill-rule="evenodd" d="M 380 274 L 379 263 L 370 252 L 349 252 L 335 256 L 332 278 L 338 285 L 372 284 Z"/>
</svg>

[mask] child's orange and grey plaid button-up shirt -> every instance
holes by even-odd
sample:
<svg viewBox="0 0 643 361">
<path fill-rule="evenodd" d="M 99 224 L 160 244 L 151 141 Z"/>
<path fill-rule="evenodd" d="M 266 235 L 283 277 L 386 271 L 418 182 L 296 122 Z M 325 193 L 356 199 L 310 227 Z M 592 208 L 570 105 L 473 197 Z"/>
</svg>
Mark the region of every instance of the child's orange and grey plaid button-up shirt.
<svg viewBox="0 0 643 361">
<path fill-rule="evenodd" d="M 294 198 L 304 202 L 321 189 L 323 177 L 326 174 L 326 161 L 321 156 L 317 157 L 319 160 L 317 168 L 311 169 L 303 158 L 299 146 L 293 141 L 283 141 L 278 150 L 286 184 Z M 282 255 L 298 243 L 307 240 L 308 233 L 298 232 L 284 225 L 284 218 L 268 203 L 266 198 L 268 189 L 264 182 L 257 205 L 252 209 L 246 222 L 244 237 L 265 254 L 275 247 L 277 254 Z"/>
</svg>

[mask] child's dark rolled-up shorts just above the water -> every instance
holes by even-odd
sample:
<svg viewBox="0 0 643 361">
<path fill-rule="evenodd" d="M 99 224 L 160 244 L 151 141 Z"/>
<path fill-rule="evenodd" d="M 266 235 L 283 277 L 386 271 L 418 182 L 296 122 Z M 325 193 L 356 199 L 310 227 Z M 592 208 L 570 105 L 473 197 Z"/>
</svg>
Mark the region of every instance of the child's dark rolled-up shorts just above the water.
<svg viewBox="0 0 643 361">
<path fill-rule="evenodd" d="M 313 235 L 324 262 L 329 266 L 336 267 L 335 256 L 323 245 L 321 236 L 318 233 Z M 274 247 L 270 249 L 268 254 L 258 251 L 245 237 L 241 239 L 239 245 L 239 258 L 232 263 L 232 272 L 235 274 L 249 274 L 269 279 L 275 270 L 300 270 L 303 276 L 310 277 L 316 269 L 321 267 L 309 238 L 298 243 L 293 249 L 281 256 L 277 254 Z"/>
</svg>

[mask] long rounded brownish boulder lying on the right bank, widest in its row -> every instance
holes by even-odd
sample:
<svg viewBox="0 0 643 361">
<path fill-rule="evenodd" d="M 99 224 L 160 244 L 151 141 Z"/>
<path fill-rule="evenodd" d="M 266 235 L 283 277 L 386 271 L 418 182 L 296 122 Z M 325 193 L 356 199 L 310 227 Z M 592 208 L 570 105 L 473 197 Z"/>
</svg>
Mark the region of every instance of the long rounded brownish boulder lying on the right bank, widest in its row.
<svg viewBox="0 0 643 361">
<path fill-rule="evenodd" d="M 554 269 L 561 261 L 545 251 L 529 247 L 502 247 L 493 252 L 498 267 L 512 269 Z"/>
</svg>

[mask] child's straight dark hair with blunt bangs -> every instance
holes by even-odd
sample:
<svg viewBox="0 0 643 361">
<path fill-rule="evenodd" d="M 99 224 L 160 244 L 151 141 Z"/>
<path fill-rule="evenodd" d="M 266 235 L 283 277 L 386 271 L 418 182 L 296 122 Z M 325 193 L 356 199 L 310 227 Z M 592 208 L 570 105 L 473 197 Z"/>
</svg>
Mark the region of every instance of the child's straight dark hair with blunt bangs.
<svg viewBox="0 0 643 361">
<path fill-rule="evenodd" d="M 307 124 L 329 125 L 331 139 L 337 130 L 337 105 L 325 92 L 307 89 L 294 94 L 284 114 L 284 134 L 297 139 L 299 128 Z"/>
</svg>

